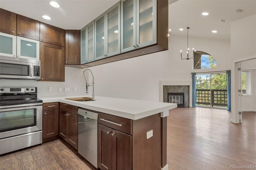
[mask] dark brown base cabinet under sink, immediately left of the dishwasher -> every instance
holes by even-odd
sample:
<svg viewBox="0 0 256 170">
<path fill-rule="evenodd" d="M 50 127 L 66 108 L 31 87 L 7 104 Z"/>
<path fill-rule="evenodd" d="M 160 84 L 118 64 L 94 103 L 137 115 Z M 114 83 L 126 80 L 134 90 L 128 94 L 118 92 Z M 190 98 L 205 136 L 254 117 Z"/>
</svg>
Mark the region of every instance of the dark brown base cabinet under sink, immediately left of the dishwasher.
<svg viewBox="0 0 256 170">
<path fill-rule="evenodd" d="M 72 108 L 71 113 L 70 108 Z M 60 137 L 74 148 L 78 148 L 78 107 L 60 103 Z M 76 114 L 72 114 L 76 113 Z"/>
</svg>

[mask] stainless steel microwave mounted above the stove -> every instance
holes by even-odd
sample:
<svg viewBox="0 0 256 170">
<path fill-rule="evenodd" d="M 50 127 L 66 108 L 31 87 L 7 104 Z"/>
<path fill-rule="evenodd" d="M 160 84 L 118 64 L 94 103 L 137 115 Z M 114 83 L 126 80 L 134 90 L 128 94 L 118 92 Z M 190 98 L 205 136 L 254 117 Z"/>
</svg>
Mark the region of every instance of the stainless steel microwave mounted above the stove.
<svg viewBox="0 0 256 170">
<path fill-rule="evenodd" d="M 0 56 L 0 78 L 40 80 L 40 60 Z"/>
</svg>

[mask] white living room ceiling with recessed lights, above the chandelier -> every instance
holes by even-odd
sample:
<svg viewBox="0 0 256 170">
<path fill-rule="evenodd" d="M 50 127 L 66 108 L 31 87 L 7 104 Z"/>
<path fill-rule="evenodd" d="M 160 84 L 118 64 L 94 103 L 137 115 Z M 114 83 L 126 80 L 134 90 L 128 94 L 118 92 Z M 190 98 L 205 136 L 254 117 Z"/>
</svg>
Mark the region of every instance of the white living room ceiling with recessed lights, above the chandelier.
<svg viewBox="0 0 256 170">
<path fill-rule="evenodd" d="M 203 16 L 202 12 L 209 15 Z M 254 14 L 256 0 L 178 0 L 169 5 L 169 26 L 171 35 L 186 36 L 190 27 L 189 36 L 230 40 L 230 23 Z M 221 23 L 221 19 L 227 23 Z M 212 30 L 218 32 L 214 34 Z"/>
</svg>

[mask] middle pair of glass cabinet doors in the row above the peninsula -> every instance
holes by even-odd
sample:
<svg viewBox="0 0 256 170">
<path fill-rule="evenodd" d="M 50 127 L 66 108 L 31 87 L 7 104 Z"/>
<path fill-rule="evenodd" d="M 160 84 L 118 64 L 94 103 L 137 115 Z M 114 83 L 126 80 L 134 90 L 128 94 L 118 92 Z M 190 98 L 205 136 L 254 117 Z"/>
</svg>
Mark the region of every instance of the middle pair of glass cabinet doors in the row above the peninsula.
<svg viewBox="0 0 256 170">
<path fill-rule="evenodd" d="M 120 54 L 120 2 L 95 20 L 95 60 Z"/>
</svg>

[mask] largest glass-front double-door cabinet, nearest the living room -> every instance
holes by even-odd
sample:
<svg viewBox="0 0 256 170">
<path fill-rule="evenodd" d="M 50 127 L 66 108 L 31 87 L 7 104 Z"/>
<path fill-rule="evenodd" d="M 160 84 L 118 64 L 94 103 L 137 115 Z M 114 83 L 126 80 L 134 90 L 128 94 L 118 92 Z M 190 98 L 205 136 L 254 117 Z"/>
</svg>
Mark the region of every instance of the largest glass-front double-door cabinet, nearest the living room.
<svg viewBox="0 0 256 170">
<path fill-rule="evenodd" d="M 121 52 L 156 43 L 156 0 L 121 1 Z"/>
</svg>

